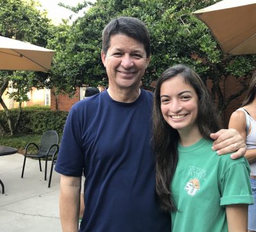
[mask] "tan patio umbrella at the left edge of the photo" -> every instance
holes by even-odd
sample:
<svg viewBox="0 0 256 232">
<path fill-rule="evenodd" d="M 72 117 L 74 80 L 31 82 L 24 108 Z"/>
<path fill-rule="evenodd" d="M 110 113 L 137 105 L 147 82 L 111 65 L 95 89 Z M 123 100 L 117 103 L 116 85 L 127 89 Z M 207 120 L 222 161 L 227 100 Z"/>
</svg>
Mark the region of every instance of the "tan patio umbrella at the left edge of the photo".
<svg viewBox="0 0 256 232">
<path fill-rule="evenodd" d="M 0 36 L 0 70 L 49 72 L 54 50 Z"/>
</svg>

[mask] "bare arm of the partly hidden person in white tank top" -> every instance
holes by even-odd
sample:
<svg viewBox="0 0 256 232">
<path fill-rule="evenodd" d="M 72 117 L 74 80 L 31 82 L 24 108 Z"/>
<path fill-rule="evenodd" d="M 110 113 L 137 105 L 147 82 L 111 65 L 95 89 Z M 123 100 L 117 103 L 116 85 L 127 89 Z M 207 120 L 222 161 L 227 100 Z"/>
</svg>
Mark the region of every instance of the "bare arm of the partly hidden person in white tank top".
<svg viewBox="0 0 256 232">
<path fill-rule="evenodd" d="M 228 128 L 236 129 L 242 135 L 244 141 L 246 140 L 246 117 L 243 111 L 235 111 L 232 113 Z M 249 163 L 256 162 L 256 149 L 246 150 L 244 157 L 246 157 Z"/>
</svg>

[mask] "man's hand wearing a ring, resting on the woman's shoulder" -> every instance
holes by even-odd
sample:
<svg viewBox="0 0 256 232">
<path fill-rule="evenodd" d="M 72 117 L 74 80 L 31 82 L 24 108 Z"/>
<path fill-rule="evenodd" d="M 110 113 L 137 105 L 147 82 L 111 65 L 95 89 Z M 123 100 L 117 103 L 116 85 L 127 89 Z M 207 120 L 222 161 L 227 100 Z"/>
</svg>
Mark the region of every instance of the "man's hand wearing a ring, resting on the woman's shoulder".
<svg viewBox="0 0 256 232">
<path fill-rule="evenodd" d="M 235 129 L 221 129 L 210 136 L 214 139 L 212 150 L 217 151 L 218 155 L 234 152 L 230 157 L 238 159 L 246 152 L 246 143 Z"/>
</svg>

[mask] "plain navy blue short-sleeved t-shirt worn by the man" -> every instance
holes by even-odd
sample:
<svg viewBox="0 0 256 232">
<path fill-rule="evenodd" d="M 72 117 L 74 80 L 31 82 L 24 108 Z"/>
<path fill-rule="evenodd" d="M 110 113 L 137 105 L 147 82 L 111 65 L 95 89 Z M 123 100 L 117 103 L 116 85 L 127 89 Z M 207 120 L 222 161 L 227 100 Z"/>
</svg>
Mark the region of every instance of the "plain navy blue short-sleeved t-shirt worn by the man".
<svg viewBox="0 0 256 232">
<path fill-rule="evenodd" d="M 80 231 L 170 232 L 159 208 L 150 138 L 152 93 L 141 89 L 132 103 L 108 91 L 70 110 L 55 170 L 81 176 L 85 211 Z"/>
</svg>

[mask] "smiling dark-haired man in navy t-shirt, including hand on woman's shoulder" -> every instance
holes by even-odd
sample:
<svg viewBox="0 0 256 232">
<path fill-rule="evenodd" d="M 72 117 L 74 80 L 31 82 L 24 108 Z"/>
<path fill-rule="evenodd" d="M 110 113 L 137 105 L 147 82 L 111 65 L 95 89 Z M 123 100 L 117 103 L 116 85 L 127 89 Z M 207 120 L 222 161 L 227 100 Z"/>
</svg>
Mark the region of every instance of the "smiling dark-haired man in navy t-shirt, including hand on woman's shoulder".
<svg viewBox="0 0 256 232">
<path fill-rule="evenodd" d="M 150 144 L 152 93 L 140 89 L 150 61 L 145 24 L 132 17 L 113 19 L 102 33 L 102 63 L 109 87 L 75 104 L 63 131 L 56 171 L 61 173 L 63 231 L 78 231 L 81 176 L 84 174 L 82 232 L 169 232 L 170 215 L 155 194 Z M 245 146 L 236 130 L 212 135 L 220 153 Z M 220 143 L 219 143 L 220 142 Z M 244 147 L 244 148 L 242 148 Z"/>
</svg>

